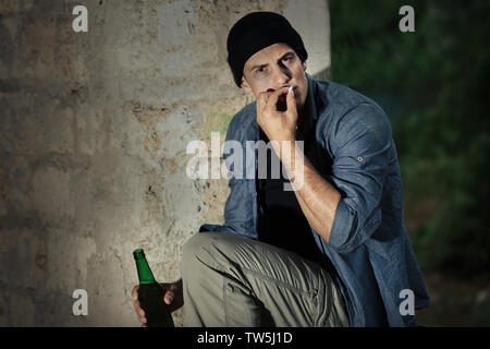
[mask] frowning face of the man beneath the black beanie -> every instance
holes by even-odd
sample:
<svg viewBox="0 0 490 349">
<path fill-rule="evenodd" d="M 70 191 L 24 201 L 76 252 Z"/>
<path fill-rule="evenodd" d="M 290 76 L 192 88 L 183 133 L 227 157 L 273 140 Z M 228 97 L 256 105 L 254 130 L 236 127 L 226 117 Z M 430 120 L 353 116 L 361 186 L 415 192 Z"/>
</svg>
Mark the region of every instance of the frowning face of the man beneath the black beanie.
<svg viewBox="0 0 490 349">
<path fill-rule="evenodd" d="M 303 108 L 308 93 L 306 62 L 286 44 L 268 46 L 252 56 L 243 69 L 242 88 L 255 97 L 262 92 L 275 91 L 284 85 L 293 85 L 298 111 Z"/>
</svg>

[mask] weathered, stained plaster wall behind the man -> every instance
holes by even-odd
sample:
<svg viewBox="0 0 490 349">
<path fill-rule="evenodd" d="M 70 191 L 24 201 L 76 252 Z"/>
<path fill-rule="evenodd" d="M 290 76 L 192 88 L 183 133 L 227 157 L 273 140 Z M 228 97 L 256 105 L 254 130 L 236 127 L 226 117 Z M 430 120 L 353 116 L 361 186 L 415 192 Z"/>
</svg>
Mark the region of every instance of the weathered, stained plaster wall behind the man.
<svg viewBox="0 0 490 349">
<path fill-rule="evenodd" d="M 225 39 L 256 10 L 284 13 L 309 72 L 329 71 L 327 1 L 0 1 L 0 326 L 138 325 L 138 246 L 179 278 L 182 244 L 222 221 L 228 194 L 187 178 L 186 145 L 252 101 Z M 72 314 L 79 288 L 88 316 Z"/>
</svg>

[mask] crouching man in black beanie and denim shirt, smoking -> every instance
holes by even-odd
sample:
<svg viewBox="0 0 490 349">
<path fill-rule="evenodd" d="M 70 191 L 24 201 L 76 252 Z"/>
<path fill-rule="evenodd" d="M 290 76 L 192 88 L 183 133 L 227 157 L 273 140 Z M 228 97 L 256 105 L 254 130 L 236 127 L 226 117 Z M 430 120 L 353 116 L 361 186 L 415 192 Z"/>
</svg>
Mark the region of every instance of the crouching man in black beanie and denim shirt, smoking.
<svg viewBox="0 0 490 349">
<path fill-rule="evenodd" d="M 429 298 L 382 109 L 311 79 L 302 38 L 279 14 L 244 16 L 228 52 L 235 83 L 256 103 L 234 116 L 226 141 L 270 142 L 268 176 L 230 179 L 224 225 L 204 225 L 184 245 L 182 279 L 166 285 L 166 302 L 185 304 L 191 326 L 415 326 L 411 309 Z M 245 160 L 245 170 L 254 166 L 261 171 Z M 413 306 L 400 306 L 405 293 Z"/>
</svg>

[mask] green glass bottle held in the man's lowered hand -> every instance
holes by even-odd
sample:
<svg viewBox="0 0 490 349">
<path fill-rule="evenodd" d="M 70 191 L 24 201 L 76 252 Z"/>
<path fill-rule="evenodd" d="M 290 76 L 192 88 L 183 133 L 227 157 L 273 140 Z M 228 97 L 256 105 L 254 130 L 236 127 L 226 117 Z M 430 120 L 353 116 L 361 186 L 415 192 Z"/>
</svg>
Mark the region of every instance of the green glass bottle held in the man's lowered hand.
<svg viewBox="0 0 490 349">
<path fill-rule="evenodd" d="M 146 313 L 148 327 L 174 327 L 169 305 L 163 301 L 164 290 L 154 277 L 143 249 L 133 252 L 138 270 L 138 300 Z"/>
</svg>

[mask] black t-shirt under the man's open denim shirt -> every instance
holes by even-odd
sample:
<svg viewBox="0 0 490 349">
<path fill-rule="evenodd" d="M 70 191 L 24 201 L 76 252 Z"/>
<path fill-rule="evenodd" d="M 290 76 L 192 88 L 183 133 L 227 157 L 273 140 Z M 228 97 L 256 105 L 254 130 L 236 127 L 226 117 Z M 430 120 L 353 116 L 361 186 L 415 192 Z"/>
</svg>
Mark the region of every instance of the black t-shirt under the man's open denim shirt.
<svg viewBox="0 0 490 349">
<path fill-rule="evenodd" d="M 261 130 L 260 139 L 266 143 L 269 142 Z M 280 178 L 271 178 L 271 157 L 275 157 L 279 161 L 275 152 L 270 148 L 267 154 L 267 179 L 258 179 L 257 194 L 264 213 L 259 217 L 258 225 L 260 240 L 296 252 L 310 261 L 323 261 L 324 256 L 318 250 L 296 194 L 284 190 L 284 183 L 289 183 L 289 180 L 284 179 L 286 176 L 283 176 L 282 164 Z"/>
</svg>

